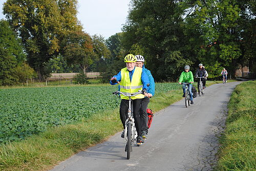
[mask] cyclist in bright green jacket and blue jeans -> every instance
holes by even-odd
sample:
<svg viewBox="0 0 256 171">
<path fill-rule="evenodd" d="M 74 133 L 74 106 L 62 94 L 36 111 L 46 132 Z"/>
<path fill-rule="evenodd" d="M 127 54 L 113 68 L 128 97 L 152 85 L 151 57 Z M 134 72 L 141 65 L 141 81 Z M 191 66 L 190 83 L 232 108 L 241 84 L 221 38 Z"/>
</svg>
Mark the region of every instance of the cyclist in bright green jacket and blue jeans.
<svg viewBox="0 0 256 171">
<path fill-rule="evenodd" d="M 192 95 L 192 83 L 194 83 L 194 77 L 191 71 L 189 71 L 190 67 L 189 65 L 185 65 L 184 67 L 185 71 L 181 72 L 180 79 L 179 79 L 179 84 L 181 83 L 190 83 L 188 84 L 188 91 L 190 95 L 190 101 L 191 104 L 193 105 L 193 95 Z M 185 97 L 185 84 L 182 84 L 182 89 L 183 89 L 183 97 Z"/>
</svg>

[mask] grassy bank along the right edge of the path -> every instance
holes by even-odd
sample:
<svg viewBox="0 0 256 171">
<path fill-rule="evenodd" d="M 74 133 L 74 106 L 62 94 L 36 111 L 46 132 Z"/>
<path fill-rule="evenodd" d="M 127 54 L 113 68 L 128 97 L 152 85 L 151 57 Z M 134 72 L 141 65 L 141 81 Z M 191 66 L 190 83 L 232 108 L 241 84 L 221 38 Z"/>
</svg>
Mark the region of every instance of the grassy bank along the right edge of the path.
<svg viewBox="0 0 256 171">
<path fill-rule="evenodd" d="M 225 134 L 221 137 L 218 167 L 215 170 L 256 169 L 256 82 L 236 87 L 228 105 Z"/>
</svg>

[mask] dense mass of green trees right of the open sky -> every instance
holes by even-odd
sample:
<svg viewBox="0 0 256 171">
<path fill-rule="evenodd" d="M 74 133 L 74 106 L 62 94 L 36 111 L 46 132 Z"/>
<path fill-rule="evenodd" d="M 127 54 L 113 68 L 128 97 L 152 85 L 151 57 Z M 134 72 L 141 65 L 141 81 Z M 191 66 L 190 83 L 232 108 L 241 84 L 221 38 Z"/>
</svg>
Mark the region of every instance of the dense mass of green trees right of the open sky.
<svg viewBox="0 0 256 171">
<path fill-rule="evenodd" d="M 156 80 L 175 81 L 185 64 L 194 72 L 203 63 L 209 78 L 223 67 L 254 71 L 255 16 L 253 0 L 132 0 L 123 45 L 146 58 Z"/>
</svg>

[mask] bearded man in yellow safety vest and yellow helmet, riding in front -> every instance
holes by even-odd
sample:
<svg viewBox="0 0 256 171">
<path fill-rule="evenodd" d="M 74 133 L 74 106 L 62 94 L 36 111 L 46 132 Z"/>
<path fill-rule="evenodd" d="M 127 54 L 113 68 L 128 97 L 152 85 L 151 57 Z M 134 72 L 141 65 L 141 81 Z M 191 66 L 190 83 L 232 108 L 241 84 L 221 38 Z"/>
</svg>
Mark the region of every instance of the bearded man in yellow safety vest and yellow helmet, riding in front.
<svg viewBox="0 0 256 171">
<path fill-rule="evenodd" d="M 140 67 L 135 66 L 136 58 L 134 55 L 129 54 L 124 58 L 124 62 L 126 64 L 125 68 L 122 68 L 121 71 L 113 76 L 110 80 L 111 85 L 115 85 L 119 83 L 120 91 L 124 94 L 130 94 L 138 92 L 142 90 L 145 94 L 147 94 L 147 89 L 150 81 L 148 80 L 148 76 Z M 128 117 L 127 110 L 129 107 L 129 97 L 120 94 L 121 103 L 120 103 L 120 119 L 123 124 L 123 128 L 125 128 L 125 120 Z M 144 142 L 141 137 L 141 121 L 140 121 L 140 104 L 142 99 L 145 96 L 143 94 L 138 94 L 136 96 L 131 97 L 133 103 L 133 117 L 135 120 L 135 127 L 137 130 L 137 142 Z M 121 137 L 124 137 L 124 131 L 121 134 Z"/>
</svg>

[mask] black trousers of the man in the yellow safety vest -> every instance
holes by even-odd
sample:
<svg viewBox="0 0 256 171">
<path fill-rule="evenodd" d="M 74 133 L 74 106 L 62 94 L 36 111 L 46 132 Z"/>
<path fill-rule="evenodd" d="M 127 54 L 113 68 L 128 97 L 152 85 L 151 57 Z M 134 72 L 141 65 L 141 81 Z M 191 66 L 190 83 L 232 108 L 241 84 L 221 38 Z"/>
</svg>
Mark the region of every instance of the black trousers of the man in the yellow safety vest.
<svg viewBox="0 0 256 171">
<path fill-rule="evenodd" d="M 132 100 L 133 106 L 133 117 L 135 121 L 135 127 L 138 133 L 138 136 L 141 135 L 141 122 L 140 122 L 140 104 L 142 99 L 134 99 Z M 128 118 L 128 108 L 129 108 L 129 100 L 122 99 L 120 103 L 120 119 L 123 124 L 123 129 L 125 128 L 125 120 Z"/>
</svg>

